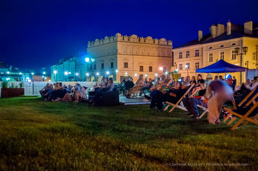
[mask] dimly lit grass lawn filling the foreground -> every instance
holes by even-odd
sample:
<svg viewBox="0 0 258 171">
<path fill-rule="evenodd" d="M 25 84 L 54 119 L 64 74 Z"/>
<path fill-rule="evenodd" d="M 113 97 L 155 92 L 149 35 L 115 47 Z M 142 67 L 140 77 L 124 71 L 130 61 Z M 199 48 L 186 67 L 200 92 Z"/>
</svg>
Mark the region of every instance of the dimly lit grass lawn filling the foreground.
<svg viewBox="0 0 258 171">
<path fill-rule="evenodd" d="M 256 125 L 147 108 L 0 98 L 0 170 L 258 170 Z"/>
</svg>

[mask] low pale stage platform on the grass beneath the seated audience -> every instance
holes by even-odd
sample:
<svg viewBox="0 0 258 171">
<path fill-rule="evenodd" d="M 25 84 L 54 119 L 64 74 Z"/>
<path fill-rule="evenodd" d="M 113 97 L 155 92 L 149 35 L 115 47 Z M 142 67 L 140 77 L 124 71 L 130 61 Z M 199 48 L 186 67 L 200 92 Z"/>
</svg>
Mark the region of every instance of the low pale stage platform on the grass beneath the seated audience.
<svg viewBox="0 0 258 171">
<path fill-rule="evenodd" d="M 120 103 L 120 105 L 142 105 L 142 104 L 151 104 L 151 101 L 149 101 L 145 97 L 126 98 L 123 95 L 119 95 L 119 103 Z"/>
</svg>

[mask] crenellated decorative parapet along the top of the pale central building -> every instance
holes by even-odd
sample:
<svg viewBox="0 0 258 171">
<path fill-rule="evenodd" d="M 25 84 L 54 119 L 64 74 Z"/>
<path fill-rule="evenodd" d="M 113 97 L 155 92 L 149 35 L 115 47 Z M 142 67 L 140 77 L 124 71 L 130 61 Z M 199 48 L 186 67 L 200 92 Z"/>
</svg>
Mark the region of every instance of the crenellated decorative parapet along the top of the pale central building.
<svg viewBox="0 0 258 171">
<path fill-rule="evenodd" d="M 152 37 L 137 37 L 137 35 L 133 34 L 131 36 L 122 36 L 120 33 L 117 33 L 115 36 L 108 37 L 106 36 L 104 39 L 96 39 L 95 41 L 88 41 L 88 48 L 96 47 L 103 44 L 109 44 L 113 42 L 128 42 L 128 43 L 141 43 L 141 44 L 154 44 L 154 45 L 162 45 L 162 46 L 172 46 L 171 40 L 162 39 L 153 39 Z"/>
</svg>

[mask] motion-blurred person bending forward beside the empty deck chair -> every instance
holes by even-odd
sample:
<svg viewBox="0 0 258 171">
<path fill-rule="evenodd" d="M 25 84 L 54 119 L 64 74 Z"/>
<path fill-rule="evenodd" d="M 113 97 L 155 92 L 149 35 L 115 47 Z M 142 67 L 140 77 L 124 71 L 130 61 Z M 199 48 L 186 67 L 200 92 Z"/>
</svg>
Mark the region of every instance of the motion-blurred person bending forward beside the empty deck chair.
<svg viewBox="0 0 258 171">
<path fill-rule="evenodd" d="M 233 109 L 236 108 L 234 91 L 224 81 L 210 82 L 204 97 L 208 100 L 207 106 L 209 112 L 207 119 L 211 124 L 220 124 L 219 116 L 225 102 L 231 101 L 233 103 Z"/>
</svg>

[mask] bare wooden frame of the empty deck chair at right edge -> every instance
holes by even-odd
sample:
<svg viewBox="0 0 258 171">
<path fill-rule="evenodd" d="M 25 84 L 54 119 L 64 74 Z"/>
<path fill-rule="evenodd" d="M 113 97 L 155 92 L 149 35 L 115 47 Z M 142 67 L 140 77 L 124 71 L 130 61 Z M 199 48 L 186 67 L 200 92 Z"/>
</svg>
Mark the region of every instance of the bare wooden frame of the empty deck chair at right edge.
<svg viewBox="0 0 258 171">
<path fill-rule="evenodd" d="M 241 107 L 241 105 L 246 102 L 246 100 L 254 93 L 254 91 L 257 89 L 254 88 L 240 103 L 239 103 L 239 107 Z M 257 107 L 258 105 L 258 102 L 255 102 L 255 99 L 258 97 L 258 93 L 256 93 L 256 95 L 254 95 L 250 100 L 249 102 L 246 103 L 246 106 L 249 106 L 251 103 L 253 103 L 253 107 L 243 116 L 243 115 L 240 115 L 240 114 L 237 114 L 236 112 L 232 111 L 231 109 L 229 108 L 224 108 L 226 109 L 228 112 L 229 112 L 229 115 L 223 120 L 223 122 L 226 122 L 231 115 L 236 115 L 237 117 L 241 118 L 237 123 L 236 125 L 232 128 L 232 130 L 236 129 L 236 127 L 241 124 L 241 122 L 243 120 L 246 120 L 246 122 L 243 124 L 246 125 L 248 122 L 252 122 L 254 124 L 257 124 L 257 121 L 254 121 L 252 120 L 251 118 L 248 118 L 248 115 Z M 227 124 L 230 125 L 237 117 L 233 117 Z"/>
</svg>

